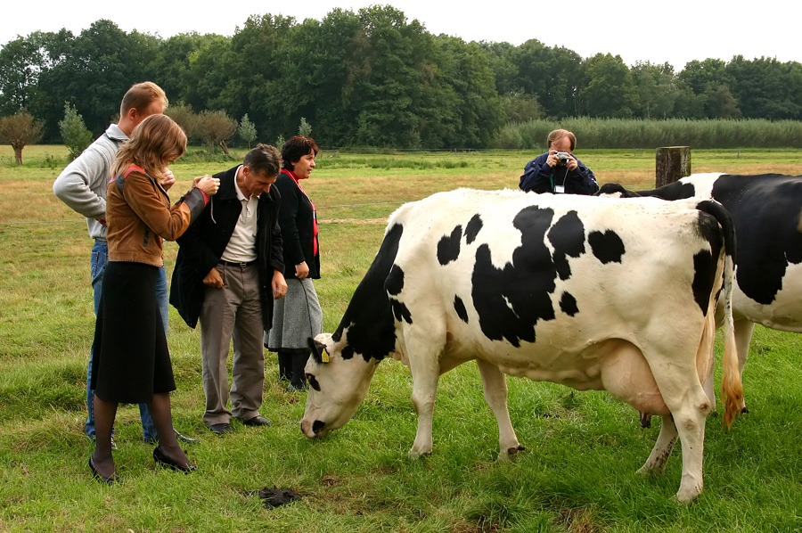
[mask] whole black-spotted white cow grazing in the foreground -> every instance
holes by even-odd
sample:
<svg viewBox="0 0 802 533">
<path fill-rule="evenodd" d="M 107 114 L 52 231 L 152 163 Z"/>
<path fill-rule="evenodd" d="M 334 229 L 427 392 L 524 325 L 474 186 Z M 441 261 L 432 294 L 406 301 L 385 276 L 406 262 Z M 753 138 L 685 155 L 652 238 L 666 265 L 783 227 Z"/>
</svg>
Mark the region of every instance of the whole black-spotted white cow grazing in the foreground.
<svg viewBox="0 0 802 533">
<path fill-rule="evenodd" d="M 700 380 L 713 357 L 716 297 L 732 294 L 733 239 L 713 201 L 461 189 L 405 204 L 337 332 L 310 339 L 301 430 L 321 437 L 348 422 L 377 365 L 395 357 L 413 375 L 409 454 L 429 454 L 438 377 L 475 359 L 500 458 L 522 449 L 505 373 L 606 389 L 663 416 L 640 471 L 662 471 L 679 435 L 677 497 L 690 501 L 702 488 L 710 399 Z M 725 339 L 729 423 L 741 384 L 732 331 Z"/>
</svg>

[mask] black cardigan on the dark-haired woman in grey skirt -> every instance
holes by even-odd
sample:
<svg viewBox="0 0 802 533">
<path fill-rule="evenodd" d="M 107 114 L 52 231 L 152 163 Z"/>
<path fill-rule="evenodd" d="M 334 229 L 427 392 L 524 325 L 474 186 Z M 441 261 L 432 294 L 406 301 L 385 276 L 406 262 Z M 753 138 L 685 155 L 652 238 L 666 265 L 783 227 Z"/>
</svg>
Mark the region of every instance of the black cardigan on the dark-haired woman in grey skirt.
<svg viewBox="0 0 802 533">
<path fill-rule="evenodd" d="M 282 208 L 279 225 L 282 226 L 284 248 L 284 277 L 295 277 L 295 266 L 304 261 L 309 267 L 309 277 L 320 279 L 320 248 L 314 253 L 315 211 L 307 195 L 283 172 L 275 180 L 274 187 L 282 193 Z"/>
</svg>

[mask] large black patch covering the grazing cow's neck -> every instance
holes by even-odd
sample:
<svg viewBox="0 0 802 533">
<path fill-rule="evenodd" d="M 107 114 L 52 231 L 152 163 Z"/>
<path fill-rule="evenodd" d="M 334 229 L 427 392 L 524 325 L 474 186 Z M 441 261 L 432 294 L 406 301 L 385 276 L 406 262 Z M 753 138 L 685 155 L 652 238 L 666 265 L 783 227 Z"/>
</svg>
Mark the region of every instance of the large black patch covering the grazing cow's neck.
<svg viewBox="0 0 802 533">
<path fill-rule="evenodd" d="M 340 326 L 331 335 L 332 340 L 340 342 L 348 328 L 348 345 L 342 349 L 343 359 L 354 357 L 356 353 L 365 362 L 372 358 L 381 360 L 396 349 L 394 313 L 384 284 L 396 261 L 398 242 L 403 233 L 404 227 L 400 224 L 388 229 L 376 258 L 348 303 Z"/>
</svg>

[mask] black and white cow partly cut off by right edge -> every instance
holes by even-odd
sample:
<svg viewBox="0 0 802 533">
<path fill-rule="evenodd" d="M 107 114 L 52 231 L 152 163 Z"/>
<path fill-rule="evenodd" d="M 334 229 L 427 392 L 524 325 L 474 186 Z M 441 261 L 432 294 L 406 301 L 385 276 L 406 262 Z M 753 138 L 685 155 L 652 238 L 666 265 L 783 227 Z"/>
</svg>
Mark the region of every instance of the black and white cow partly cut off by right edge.
<svg viewBox="0 0 802 533">
<path fill-rule="evenodd" d="M 802 176 L 694 174 L 651 191 L 604 184 L 599 194 L 713 199 L 730 212 L 738 250 L 732 318 L 741 374 L 755 324 L 802 332 Z M 712 374 L 705 389 L 713 390 Z M 747 411 L 745 403 L 741 407 Z"/>
</svg>

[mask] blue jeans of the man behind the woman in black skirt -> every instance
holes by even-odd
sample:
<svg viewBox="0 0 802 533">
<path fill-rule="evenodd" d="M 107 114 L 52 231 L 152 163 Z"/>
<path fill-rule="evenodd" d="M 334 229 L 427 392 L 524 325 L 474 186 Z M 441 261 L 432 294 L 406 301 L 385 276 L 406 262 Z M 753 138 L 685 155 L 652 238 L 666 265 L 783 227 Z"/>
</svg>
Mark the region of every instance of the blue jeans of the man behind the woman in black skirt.
<svg viewBox="0 0 802 533">
<path fill-rule="evenodd" d="M 109 260 L 109 245 L 105 241 L 95 239 L 94 246 L 92 247 L 91 259 L 92 289 L 94 291 L 94 315 L 97 316 L 103 291 L 103 272 L 106 269 L 106 261 Z M 167 335 L 168 286 L 167 273 L 165 272 L 164 267 L 159 269 L 159 275 L 156 280 L 156 300 L 159 302 L 161 322 L 164 324 L 164 333 Z M 90 439 L 94 439 L 94 390 L 90 389 L 90 383 L 92 380 L 93 352 L 94 341 L 92 342 L 92 351 L 89 352 L 89 368 L 86 371 L 86 411 L 88 412 L 88 417 L 86 418 L 86 436 Z M 156 426 L 153 425 L 153 419 L 151 418 L 151 413 L 148 411 L 148 406 L 146 404 L 139 404 L 139 414 L 142 418 L 143 439 L 157 439 Z"/>
</svg>

